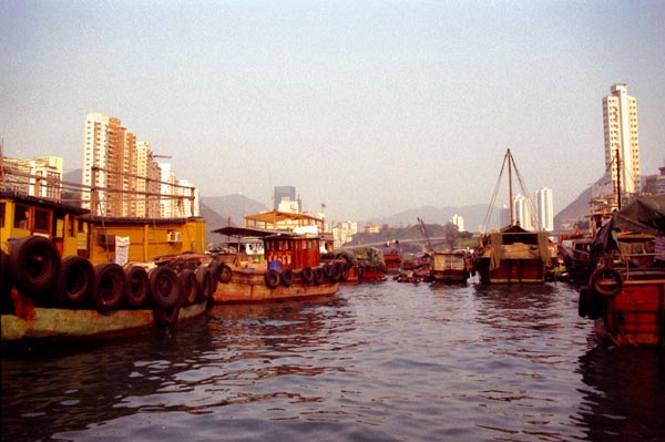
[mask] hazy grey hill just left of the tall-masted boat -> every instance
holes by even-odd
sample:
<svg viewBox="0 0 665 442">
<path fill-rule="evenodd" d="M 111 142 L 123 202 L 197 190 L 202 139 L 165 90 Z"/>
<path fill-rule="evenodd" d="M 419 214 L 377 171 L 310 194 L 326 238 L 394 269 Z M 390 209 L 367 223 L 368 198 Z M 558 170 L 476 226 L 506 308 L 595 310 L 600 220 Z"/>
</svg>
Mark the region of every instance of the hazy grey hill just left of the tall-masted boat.
<svg viewBox="0 0 665 442">
<path fill-rule="evenodd" d="M 440 224 L 444 226 L 450 223 L 452 216 L 457 214 L 464 218 L 464 228 L 467 230 L 478 232 L 484 220 L 487 212 L 488 205 L 484 204 L 462 207 L 423 206 L 400 212 L 399 214 L 389 217 L 374 218 L 371 219 L 371 223 L 379 225 L 387 224 L 389 226 L 410 226 L 418 224 L 418 218 L 422 218 L 427 224 Z M 499 209 L 494 209 L 488 229 L 498 228 L 500 220 Z"/>
</svg>

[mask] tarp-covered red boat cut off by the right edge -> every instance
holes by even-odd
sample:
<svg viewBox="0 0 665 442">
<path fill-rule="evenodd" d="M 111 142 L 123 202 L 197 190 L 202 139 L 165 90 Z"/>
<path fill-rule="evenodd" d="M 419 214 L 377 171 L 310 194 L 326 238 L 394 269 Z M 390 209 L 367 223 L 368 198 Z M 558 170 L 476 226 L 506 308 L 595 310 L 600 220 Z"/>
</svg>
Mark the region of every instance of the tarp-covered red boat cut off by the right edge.
<svg viewBox="0 0 665 442">
<path fill-rule="evenodd" d="M 615 346 L 665 343 L 665 195 L 615 212 L 592 245 L 600 267 L 580 290 L 579 313 Z"/>
</svg>

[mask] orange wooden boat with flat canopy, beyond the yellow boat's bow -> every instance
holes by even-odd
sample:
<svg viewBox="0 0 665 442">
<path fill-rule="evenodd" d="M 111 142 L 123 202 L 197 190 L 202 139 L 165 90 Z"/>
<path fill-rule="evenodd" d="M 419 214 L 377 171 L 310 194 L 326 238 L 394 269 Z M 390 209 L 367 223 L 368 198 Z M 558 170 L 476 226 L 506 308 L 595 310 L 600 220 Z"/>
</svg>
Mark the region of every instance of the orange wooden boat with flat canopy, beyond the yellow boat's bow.
<svg viewBox="0 0 665 442">
<path fill-rule="evenodd" d="M 223 227 L 214 233 L 228 237 L 260 238 L 262 260 L 237 255 L 222 263 L 213 300 L 223 302 L 279 301 L 329 296 L 348 277 L 339 261 L 321 264 L 321 237 L 314 233 L 278 232 L 248 227 Z M 245 259 L 243 259 L 245 258 Z"/>
</svg>

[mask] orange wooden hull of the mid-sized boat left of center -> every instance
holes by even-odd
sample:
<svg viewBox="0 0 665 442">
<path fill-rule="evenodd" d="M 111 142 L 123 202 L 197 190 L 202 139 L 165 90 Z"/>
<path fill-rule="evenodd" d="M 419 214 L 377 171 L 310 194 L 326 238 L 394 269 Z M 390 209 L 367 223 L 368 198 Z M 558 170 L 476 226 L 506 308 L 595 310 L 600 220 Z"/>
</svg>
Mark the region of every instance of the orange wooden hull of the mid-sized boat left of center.
<svg viewBox="0 0 665 442">
<path fill-rule="evenodd" d="M 294 276 L 290 286 L 278 285 L 270 288 L 265 281 L 266 271 L 232 269 L 228 282 L 217 284 L 213 294 L 216 304 L 224 302 L 267 302 L 295 298 L 309 298 L 335 295 L 339 282 L 323 281 L 319 285 L 306 282 L 299 275 Z"/>
</svg>

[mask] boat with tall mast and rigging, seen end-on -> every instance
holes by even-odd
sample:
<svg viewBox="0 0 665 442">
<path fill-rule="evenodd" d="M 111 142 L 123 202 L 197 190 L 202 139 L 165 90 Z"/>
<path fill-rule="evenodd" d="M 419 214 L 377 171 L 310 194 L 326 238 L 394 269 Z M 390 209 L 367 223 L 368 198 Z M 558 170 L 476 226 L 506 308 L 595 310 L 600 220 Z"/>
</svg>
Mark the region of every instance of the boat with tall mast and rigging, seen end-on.
<svg viewBox="0 0 665 442">
<path fill-rule="evenodd" d="M 509 226 L 482 236 L 481 246 L 475 250 L 473 267 L 483 284 L 542 284 L 548 275 L 552 275 L 552 269 L 556 265 L 556 248 L 550 240 L 548 232 L 528 230 L 515 222 L 512 195 L 513 168 L 518 173 L 520 183 L 522 178 L 519 176 L 510 148 L 503 158 L 501 173 L 507 165 L 511 222 Z M 529 202 L 528 198 L 526 201 Z M 492 201 L 490 210 L 493 205 Z M 485 226 L 488 218 L 485 217 Z"/>
</svg>

